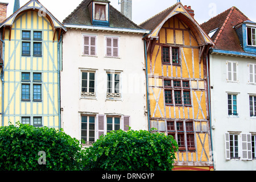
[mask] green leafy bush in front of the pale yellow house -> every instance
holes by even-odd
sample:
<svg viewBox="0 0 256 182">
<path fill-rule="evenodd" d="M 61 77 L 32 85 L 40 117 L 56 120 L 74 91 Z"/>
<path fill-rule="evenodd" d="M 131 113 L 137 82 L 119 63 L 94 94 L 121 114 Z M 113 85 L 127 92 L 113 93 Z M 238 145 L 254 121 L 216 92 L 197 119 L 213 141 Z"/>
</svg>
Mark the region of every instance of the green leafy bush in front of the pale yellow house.
<svg viewBox="0 0 256 182">
<path fill-rule="evenodd" d="M 43 151 L 40 154 L 40 151 Z M 79 140 L 48 127 L 0 127 L 0 170 L 82 170 Z"/>
</svg>

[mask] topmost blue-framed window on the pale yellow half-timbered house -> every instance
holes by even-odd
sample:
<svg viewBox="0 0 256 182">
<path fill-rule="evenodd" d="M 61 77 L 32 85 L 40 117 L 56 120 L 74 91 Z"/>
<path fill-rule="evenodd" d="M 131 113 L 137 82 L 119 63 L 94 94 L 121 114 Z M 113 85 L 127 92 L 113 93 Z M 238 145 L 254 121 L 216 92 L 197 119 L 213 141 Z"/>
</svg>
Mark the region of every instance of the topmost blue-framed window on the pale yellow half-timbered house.
<svg viewBox="0 0 256 182">
<path fill-rule="evenodd" d="M 22 31 L 22 56 L 30 56 L 31 45 L 33 56 L 42 56 L 42 31 L 34 31 L 31 40 L 31 31 Z"/>
</svg>

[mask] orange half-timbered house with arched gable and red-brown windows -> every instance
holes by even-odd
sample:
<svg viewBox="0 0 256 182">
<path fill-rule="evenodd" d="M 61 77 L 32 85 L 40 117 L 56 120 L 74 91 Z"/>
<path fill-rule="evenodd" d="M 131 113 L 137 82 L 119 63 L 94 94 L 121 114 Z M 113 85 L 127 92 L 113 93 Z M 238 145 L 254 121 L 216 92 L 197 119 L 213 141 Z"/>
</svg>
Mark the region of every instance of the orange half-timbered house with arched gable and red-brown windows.
<svg viewBox="0 0 256 182">
<path fill-rule="evenodd" d="M 212 169 L 207 53 L 214 44 L 176 3 L 140 26 L 145 36 L 150 128 L 179 146 L 176 170 Z"/>
</svg>

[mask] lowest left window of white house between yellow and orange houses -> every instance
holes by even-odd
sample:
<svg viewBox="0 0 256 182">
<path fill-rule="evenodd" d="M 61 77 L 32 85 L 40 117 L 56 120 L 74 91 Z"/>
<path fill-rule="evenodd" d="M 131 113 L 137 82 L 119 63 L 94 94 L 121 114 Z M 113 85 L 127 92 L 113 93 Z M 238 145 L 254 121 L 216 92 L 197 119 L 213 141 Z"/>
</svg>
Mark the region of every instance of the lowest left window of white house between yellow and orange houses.
<svg viewBox="0 0 256 182">
<path fill-rule="evenodd" d="M 81 116 L 81 139 L 85 142 L 95 142 L 95 117 L 89 115 Z"/>
</svg>

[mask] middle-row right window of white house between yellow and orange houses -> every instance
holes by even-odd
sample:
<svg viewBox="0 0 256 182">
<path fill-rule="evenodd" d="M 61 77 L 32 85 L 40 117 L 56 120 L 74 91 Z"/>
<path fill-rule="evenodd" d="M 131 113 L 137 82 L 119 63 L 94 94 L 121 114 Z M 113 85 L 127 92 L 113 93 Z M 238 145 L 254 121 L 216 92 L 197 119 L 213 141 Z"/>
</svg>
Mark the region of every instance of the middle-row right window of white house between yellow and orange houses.
<svg viewBox="0 0 256 182">
<path fill-rule="evenodd" d="M 107 73 L 107 97 L 121 97 L 120 73 Z"/>
</svg>

